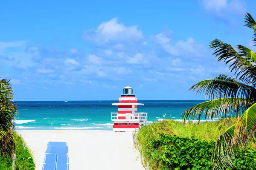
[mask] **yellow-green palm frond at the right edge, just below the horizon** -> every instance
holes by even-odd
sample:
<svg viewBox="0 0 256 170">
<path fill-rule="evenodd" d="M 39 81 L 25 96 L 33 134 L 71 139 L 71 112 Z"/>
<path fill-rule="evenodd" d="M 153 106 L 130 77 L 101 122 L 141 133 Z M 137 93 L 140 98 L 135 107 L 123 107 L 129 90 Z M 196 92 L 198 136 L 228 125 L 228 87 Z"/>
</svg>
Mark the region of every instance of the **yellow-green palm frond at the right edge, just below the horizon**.
<svg viewBox="0 0 256 170">
<path fill-rule="evenodd" d="M 254 142 L 256 138 L 256 103 L 248 108 L 236 123 L 236 135 L 241 139 L 241 145 Z"/>
</svg>

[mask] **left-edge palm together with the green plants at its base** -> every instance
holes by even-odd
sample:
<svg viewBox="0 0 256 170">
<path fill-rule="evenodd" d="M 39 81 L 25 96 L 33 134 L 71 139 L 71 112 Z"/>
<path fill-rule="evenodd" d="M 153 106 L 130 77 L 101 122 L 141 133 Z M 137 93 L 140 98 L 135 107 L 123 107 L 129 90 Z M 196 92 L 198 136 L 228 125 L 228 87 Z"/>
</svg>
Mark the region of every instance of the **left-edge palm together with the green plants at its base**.
<svg viewBox="0 0 256 170">
<path fill-rule="evenodd" d="M 15 170 L 35 170 L 35 164 L 23 139 L 14 131 L 17 114 L 9 80 L 0 80 L 0 170 L 12 170 L 12 153 L 16 153 Z"/>
</svg>

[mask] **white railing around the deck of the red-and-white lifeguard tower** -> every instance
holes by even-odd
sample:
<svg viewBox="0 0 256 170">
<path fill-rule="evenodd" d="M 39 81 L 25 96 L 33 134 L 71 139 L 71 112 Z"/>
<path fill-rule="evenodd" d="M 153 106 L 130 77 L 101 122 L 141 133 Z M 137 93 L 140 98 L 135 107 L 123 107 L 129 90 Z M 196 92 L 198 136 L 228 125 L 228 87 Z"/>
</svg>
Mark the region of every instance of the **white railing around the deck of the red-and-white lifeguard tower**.
<svg viewBox="0 0 256 170">
<path fill-rule="evenodd" d="M 116 120 L 121 120 L 121 121 L 127 121 L 127 120 L 139 120 L 139 121 L 147 121 L 148 119 L 148 113 L 144 112 L 139 112 L 139 113 L 130 113 L 131 117 L 129 116 L 130 119 L 118 119 L 118 117 L 124 117 L 126 116 L 125 113 L 119 114 L 119 113 L 111 113 L 111 120 L 116 121 Z M 122 115 L 122 116 L 121 116 Z"/>
</svg>

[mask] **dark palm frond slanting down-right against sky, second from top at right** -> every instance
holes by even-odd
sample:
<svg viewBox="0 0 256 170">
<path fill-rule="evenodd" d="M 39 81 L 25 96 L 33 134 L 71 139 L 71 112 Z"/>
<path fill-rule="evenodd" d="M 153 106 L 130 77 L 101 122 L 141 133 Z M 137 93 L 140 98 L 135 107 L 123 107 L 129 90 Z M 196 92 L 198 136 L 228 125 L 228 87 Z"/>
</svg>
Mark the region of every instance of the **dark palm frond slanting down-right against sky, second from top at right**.
<svg viewBox="0 0 256 170">
<path fill-rule="evenodd" d="M 256 86 L 256 66 L 247 58 L 240 55 L 234 48 L 221 40 L 213 40 L 210 42 L 210 48 L 214 49 L 213 55 L 218 57 L 218 61 L 223 60 L 226 64 L 231 63 L 230 71 L 235 73 L 239 80 L 251 83 Z"/>
</svg>

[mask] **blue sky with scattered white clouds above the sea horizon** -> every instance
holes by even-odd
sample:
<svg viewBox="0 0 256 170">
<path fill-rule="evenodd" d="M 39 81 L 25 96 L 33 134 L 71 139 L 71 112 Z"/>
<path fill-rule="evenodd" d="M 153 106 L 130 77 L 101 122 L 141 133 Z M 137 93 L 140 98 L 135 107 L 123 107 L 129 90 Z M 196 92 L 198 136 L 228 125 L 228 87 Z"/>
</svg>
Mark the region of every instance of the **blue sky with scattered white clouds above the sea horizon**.
<svg viewBox="0 0 256 170">
<path fill-rule="evenodd" d="M 253 51 L 254 0 L 0 0 L 0 77 L 16 101 L 205 99 L 188 89 L 219 74 L 209 42 Z"/>
</svg>

